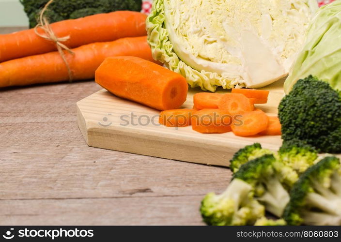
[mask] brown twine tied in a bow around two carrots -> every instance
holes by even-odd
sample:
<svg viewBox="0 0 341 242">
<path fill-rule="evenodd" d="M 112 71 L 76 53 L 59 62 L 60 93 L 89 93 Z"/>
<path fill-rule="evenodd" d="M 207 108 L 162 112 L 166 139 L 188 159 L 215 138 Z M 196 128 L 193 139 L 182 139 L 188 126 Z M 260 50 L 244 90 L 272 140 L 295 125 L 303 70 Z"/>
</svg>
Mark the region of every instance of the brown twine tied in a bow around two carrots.
<svg viewBox="0 0 341 242">
<path fill-rule="evenodd" d="M 66 60 L 65 57 L 65 53 L 63 50 L 66 50 L 67 52 L 69 52 L 70 54 L 74 55 L 75 53 L 66 45 L 62 44 L 62 42 L 67 41 L 68 39 L 70 39 L 70 35 L 64 36 L 64 37 L 57 37 L 56 34 L 53 32 L 50 23 L 47 20 L 47 17 L 44 16 L 47 7 L 53 2 L 54 0 L 49 0 L 47 2 L 47 4 L 44 6 L 44 8 L 42 9 L 42 11 L 40 11 L 39 14 L 39 20 L 38 20 L 38 24 L 37 26 L 34 27 L 34 32 L 36 35 L 38 35 L 39 37 L 46 39 L 48 41 L 52 41 L 53 43 L 55 43 L 57 50 L 59 52 L 59 54 L 62 57 L 62 60 L 64 61 L 66 68 L 67 68 L 67 72 L 69 75 L 69 81 L 72 82 L 73 76 L 72 76 L 72 71 L 70 68 L 69 63 Z M 45 34 L 41 34 L 38 32 L 38 29 L 42 29 L 44 30 Z"/>
</svg>

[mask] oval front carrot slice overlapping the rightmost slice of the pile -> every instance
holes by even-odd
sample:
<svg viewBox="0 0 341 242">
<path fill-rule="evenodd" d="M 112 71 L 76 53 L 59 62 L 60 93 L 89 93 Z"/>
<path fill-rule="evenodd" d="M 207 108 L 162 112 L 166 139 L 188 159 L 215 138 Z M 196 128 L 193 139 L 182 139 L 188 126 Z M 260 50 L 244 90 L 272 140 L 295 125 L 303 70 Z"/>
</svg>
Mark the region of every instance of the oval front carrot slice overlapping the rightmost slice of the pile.
<svg viewBox="0 0 341 242">
<path fill-rule="evenodd" d="M 253 136 L 266 130 L 268 122 L 268 116 L 261 110 L 245 112 L 234 119 L 232 131 L 236 136 Z"/>
</svg>

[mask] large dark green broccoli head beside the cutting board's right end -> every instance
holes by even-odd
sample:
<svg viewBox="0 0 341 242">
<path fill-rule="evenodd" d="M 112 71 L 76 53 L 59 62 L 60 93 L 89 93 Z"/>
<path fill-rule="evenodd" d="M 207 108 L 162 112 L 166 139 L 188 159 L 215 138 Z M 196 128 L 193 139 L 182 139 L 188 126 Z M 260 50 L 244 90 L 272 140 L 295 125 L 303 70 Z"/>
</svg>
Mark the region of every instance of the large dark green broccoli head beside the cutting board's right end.
<svg viewBox="0 0 341 242">
<path fill-rule="evenodd" d="M 341 152 L 341 95 L 315 77 L 298 80 L 279 104 L 284 142 L 299 139 L 327 153 Z"/>
</svg>

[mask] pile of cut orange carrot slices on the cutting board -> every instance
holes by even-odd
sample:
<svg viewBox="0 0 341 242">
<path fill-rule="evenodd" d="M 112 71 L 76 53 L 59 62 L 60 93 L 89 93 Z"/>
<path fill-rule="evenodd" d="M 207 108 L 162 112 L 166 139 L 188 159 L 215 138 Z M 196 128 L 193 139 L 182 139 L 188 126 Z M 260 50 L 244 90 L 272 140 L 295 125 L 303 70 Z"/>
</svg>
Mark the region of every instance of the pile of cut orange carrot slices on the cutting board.
<svg viewBox="0 0 341 242">
<path fill-rule="evenodd" d="M 205 134 L 233 132 L 236 136 L 281 135 L 278 117 L 269 117 L 255 104 L 266 104 L 269 91 L 232 89 L 231 93 L 199 92 L 193 109 L 162 111 L 159 123 L 168 127 L 192 126 Z"/>
</svg>

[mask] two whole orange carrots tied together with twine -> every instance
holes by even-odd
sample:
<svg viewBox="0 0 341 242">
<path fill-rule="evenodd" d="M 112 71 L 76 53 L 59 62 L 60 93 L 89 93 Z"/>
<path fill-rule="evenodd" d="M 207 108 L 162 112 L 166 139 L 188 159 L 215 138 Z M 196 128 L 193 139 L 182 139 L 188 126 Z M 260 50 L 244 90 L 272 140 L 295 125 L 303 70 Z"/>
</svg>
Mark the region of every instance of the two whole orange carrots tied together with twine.
<svg viewBox="0 0 341 242">
<path fill-rule="evenodd" d="M 72 53 L 56 51 L 56 43 L 42 38 L 42 29 L 0 37 L 0 88 L 35 83 L 91 79 L 107 57 L 137 56 L 153 61 L 147 44 L 146 15 L 117 11 L 50 24 L 54 35 Z M 52 51 L 52 52 L 51 52 Z M 66 62 L 66 63 L 65 63 Z"/>
</svg>

